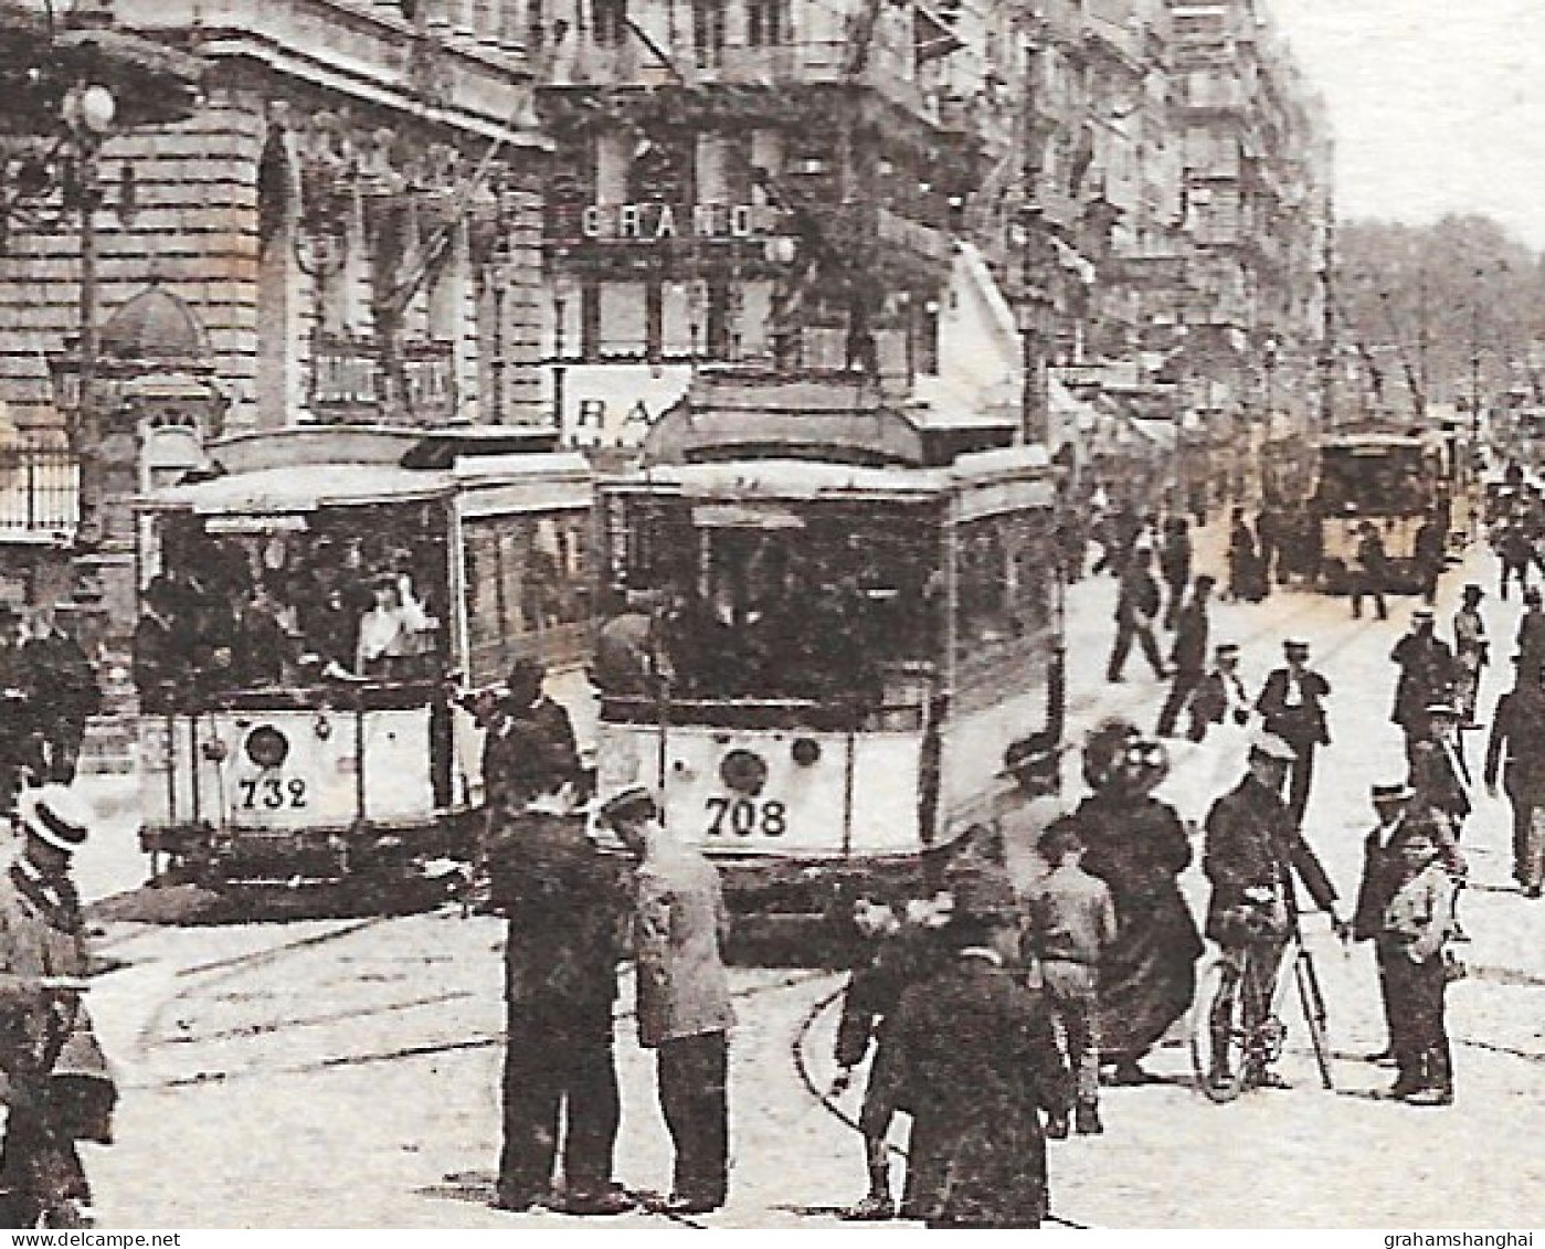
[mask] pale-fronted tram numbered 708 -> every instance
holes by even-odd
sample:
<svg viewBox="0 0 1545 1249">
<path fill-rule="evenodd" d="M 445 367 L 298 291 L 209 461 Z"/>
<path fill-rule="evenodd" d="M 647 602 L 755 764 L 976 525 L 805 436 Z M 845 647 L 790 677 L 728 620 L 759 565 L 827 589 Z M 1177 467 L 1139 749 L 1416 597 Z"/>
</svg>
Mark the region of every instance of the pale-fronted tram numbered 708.
<svg viewBox="0 0 1545 1249">
<path fill-rule="evenodd" d="M 709 376 L 599 487 L 604 575 L 654 638 L 652 679 L 603 683 L 599 795 L 655 788 L 763 914 L 913 880 L 1052 790 L 1063 733 L 1044 451 L 810 391 Z"/>
</svg>

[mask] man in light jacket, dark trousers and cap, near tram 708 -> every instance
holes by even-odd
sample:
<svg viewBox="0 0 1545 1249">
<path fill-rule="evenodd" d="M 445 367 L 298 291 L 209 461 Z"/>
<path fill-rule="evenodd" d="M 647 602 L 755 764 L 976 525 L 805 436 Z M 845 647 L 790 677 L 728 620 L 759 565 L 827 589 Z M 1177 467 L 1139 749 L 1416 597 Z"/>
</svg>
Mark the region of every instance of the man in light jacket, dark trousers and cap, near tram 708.
<svg viewBox="0 0 1545 1249">
<path fill-rule="evenodd" d="M 722 957 L 729 912 L 718 869 L 672 836 L 643 785 L 607 799 L 599 821 L 640 859 L 638 1043 L 658 1056 L 660 1110 L 675 1144 L 666 1209 L 708 1213 L 725 1204 L 729 1187 L 728 1033 L 735 1022 Z"/>
</svg>

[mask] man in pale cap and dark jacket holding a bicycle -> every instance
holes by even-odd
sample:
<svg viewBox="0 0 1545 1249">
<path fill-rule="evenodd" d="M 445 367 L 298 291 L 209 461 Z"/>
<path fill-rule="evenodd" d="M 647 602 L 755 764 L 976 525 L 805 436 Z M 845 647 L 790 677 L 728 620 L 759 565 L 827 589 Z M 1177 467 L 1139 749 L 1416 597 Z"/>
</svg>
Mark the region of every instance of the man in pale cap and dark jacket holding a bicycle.
<svg viewBox="0 0 1545 1249">
<path fill-rule="evenodd" d="M 1336 914 L 1336 890 L 1319 858 L 1298 832 L 1282 802 L 1282 785 L 1296 757 L 1293 747 L 1273 733 L 1251 740 L 1248 771 L 1230 793 L 1213 804 L 1207 816 L 1202 872 L 1211 881 L 1207 935 L 1217 941 L 1234 968 L 1244 991 L 1245 1025 L 1259 1025 L 1272 1008 L 1282 952 L 1298 926 L 1293 872 L 1302 880 L 1315 906 L 1330 915 L 1336 935 L 1347 932 Z M 1216 1026 L 1227 1028 L 1227 1023 Z M 1213 1084 L 1227 1084 L 1227 1043 L 1213 1047 Z M 1247 1087 L 1284 1088 L 1265 1059 L 1247 1059 Z"/>
</svg>

